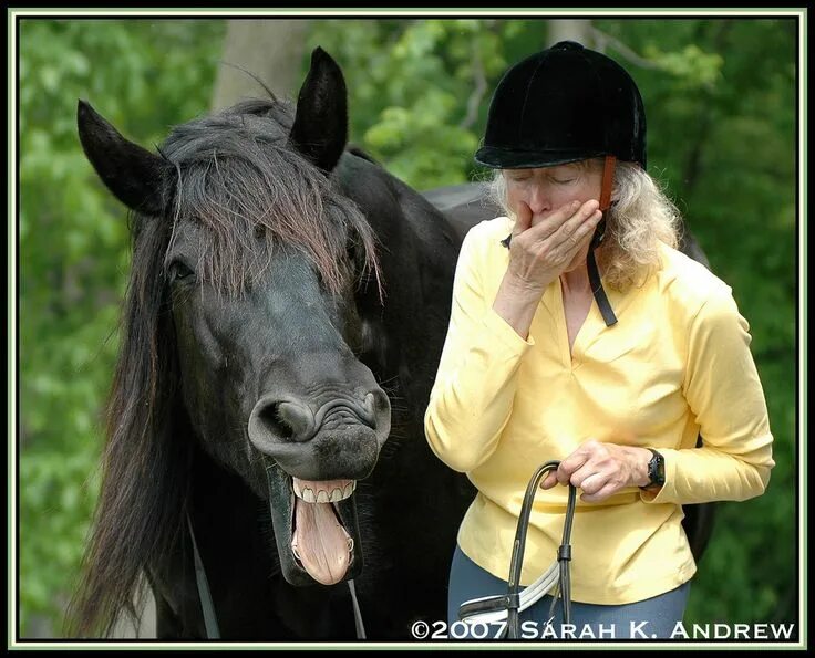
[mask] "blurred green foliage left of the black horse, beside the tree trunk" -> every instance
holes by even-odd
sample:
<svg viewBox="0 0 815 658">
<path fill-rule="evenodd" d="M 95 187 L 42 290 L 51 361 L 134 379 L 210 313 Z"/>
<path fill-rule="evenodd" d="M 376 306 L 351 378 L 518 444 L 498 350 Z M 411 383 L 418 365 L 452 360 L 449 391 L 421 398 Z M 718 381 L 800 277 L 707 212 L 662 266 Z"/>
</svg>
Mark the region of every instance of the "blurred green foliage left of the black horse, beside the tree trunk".
<svg viewBox="0 0 815 658">
<path fill-rule="evenodd" d="M 20 21 L 23 637 L 58 633 L 78 573 L 128 261 L 125 210 L 82 154 L 76 102 L 149 146 L 207 108 L 223 32 L 221 21 Z"/>
</svg>

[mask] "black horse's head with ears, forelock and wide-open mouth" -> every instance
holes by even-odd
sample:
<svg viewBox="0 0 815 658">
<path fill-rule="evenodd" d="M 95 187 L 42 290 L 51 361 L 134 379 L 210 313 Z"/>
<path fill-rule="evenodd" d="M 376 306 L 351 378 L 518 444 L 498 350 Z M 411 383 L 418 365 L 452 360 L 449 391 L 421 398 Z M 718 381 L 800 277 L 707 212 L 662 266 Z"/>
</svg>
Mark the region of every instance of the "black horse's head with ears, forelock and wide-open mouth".
<svg viewBox="0 0 815 658">
<path fill-rule="evenodd" d="M 391 422 L 355 356 L 354 294 L 378 283 L 374 238 L 330 178 L 345 103 L 339 67 L 318 49 L 293 116 L 247 102 L 176 127 L 159 155 L 79 106 L 89 159 L 136 213 L 131 288 L 169 311 L 156 349 L 173 354 L 155 363 L 176 364 L 206 452 L 268 499 L 293 584 L 361 567 L 352 492 Z M 125 337 L 142 338 L 155 341 Z"/>
</svg>

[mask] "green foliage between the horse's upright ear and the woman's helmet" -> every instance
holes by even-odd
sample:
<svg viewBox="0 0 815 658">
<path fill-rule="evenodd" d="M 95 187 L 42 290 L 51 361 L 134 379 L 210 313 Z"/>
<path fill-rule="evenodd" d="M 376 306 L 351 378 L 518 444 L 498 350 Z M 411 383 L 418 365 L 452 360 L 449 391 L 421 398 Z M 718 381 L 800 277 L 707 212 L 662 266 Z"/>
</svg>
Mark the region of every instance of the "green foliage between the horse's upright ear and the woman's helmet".
<svg viewBox="0 0 815 658">
<path fill-rule="evenodd" d="M 541 21 L 390 20 L 316 23 L 343 67 L 351 139 L 416 189 L 465 182 L 503 42 Z M 518 36 L 520 34 L 520 36 Z"/>
</svg>

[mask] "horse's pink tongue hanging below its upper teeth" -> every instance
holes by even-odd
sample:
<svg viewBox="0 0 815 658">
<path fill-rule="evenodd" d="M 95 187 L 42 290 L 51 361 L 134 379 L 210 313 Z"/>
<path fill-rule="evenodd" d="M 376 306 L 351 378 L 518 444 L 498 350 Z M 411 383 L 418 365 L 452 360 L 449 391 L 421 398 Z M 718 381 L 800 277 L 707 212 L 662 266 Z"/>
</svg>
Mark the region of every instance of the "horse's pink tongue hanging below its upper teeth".
<svg viewBox="0 0 815 658">
<path fill-rule="evenodd" d="M 351 563 L 351 537 L 337 520 L 331 503 L 307 503 L 296 498 L 295 514 L 291 546 L 303 568 L 318 583 L 339 583 Z"/>
</svg>

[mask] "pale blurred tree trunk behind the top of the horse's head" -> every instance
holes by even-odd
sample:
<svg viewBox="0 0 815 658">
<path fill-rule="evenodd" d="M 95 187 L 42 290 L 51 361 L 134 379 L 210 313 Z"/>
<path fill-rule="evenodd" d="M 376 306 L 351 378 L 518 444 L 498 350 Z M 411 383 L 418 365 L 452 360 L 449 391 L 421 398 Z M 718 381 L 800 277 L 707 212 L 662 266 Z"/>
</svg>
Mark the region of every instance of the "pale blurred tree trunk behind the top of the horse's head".
<svg viewBox="0 0 815 658">
<path fill-rule="evenodd" d="M 278 98 L 293 98 L 308 23 L 281 19 L 228 21 L 213 109 L 223 109 L 241 98 L 267 96 L 262 85 L 240 69 L 259 77 Z"/>
</svg>

